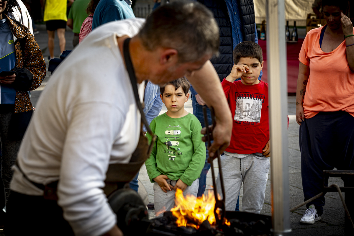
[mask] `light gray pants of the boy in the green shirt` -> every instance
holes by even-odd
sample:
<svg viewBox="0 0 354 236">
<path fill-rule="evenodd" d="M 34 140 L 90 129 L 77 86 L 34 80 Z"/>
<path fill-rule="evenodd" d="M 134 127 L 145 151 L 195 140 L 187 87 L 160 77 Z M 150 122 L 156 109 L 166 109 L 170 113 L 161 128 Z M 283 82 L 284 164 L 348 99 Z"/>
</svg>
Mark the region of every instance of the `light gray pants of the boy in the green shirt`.
<svg viewBox="0 0 354 236">
<path fill-rule="evenodd" d="M 177 180 L 166 179 L 167 183 L 175 186 Z M 199 180 L 196 179 L 192 183 L 192 185 L 188 186 L 184 191 L 183 195 L 193 195 L 195 196 L 195 203 L 196 197 L 198 194 L 198 187 L 199 187 Z M 154 207 L 155 207 L 155 216 L 158 217 L 160 214 L 164 213 L 165 211 L 170 211 L 173 207 L 175 207 L 175 194 L 176 191 L 172 190 L 167 192 L 162 191 L 158 183 L 154 183 Z"/>
</svg>

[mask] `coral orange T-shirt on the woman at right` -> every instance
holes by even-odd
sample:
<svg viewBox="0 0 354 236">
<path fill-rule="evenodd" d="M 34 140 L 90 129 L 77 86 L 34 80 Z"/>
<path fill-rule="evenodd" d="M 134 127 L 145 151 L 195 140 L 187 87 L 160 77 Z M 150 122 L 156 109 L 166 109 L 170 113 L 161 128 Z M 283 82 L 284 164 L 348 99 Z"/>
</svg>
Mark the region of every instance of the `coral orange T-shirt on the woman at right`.
<svg viewBox="0 0 354 236">
<path fill-rule="evenodd" d="M 307 33 L 299 54 L 299 61 L 310 67 L 303 101 L 305 117 L 320 111 L 347 111 L 354 116 L 354 72 L 348 65 L 346 41 L 332 52 L 323 52 L 322 28 Z"/>
</svg>

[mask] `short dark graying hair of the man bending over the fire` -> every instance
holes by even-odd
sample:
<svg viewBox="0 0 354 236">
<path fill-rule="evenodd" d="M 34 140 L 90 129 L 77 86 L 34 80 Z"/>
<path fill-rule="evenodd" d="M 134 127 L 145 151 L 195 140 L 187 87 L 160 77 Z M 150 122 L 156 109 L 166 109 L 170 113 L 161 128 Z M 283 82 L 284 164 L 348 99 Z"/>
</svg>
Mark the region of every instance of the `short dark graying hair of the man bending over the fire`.
<svg viewBox="0 0 354 236">
<path fill-rule="evenodd" d="M 198 61 L 218 54 L 219 27 L 213 13 L 196 1 L 175 1 L 158 7 L 148 16 L 138 37 L 143 46 L 174 48 L 178 61 Z"/>
</svg>

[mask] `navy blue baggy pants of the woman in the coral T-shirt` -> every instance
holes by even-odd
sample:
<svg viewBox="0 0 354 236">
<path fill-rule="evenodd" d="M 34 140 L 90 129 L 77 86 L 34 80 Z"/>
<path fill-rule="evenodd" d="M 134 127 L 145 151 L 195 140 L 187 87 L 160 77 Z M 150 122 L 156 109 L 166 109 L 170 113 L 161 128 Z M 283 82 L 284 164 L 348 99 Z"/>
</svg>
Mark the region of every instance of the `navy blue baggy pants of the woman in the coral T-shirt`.
<svg viewBox="0 0 354 236">
<path fill-rule="evenodd" d="M 302 121 L 299 143 L 304 201 L 322 192 L 323 170 L 354 170 L 354 117 L 345 111 L 320 112 Z M 342 179 L 344 186 L 354 186 L 353 179 Z M 322 215 L 325 197 L 306 206 L 311 204 Z"/>
</svg>

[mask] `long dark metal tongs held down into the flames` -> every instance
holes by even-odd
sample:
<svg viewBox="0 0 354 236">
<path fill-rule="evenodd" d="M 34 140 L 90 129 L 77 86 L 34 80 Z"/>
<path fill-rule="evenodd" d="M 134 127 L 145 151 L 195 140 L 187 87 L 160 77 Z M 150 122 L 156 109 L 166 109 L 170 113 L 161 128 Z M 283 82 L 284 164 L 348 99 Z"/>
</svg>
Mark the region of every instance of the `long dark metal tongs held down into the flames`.
<svg viewBox="0 0 354 236">
<path fill-rule="evenodd" d="M 213 107 L 210 108 L 210 113 L 211 113 L 211 120 L 213 123 L 213 127 L 215 127 L 216 119 L 215 119 L 215 112 L 214 112 Z M 205 137 L 207 138 L 208 148 L 209 148 L 211 145 L 211 140 L 213 140 L 213 136 L 212 136 L 212 131 L 209 130 L 209 122 L 208 122 L 208 116 L 206 113 L 206 107 L 203 107 L 203 114 L 204 114 L 204 123 L 205 123 L 205 127 L 206 127 Z M 214 215 L 215 215 L 216 223 L 219 224 L 219 228 L 220 228 L 221 225 L 224 223 L 224 217 L 225 217 L 225 188 L 224 188 L 224 180 L 223 180 L 224 178 L 223 178 L 222 169 L 221 169 L 220 149 L 217 150 L 217 152 L 215 154 L 216 155 L 214 155 L 214 158 L 216 158 L 218 160 L 218 166 L 219 166 L 221 192 L 222 192 L 221 199 L 219 199 L 219 197 L 218 197 L 218 191 L 217 191 L 217 187 L 216 187 L 216 178 L 215 178 L 214 166 L 213 166 L 213 159 L 214 158 L 209 157 L 208 162 L 210 163 L 211 175 L 213 178 L 213 185 L 214 185 L 214 196 L 215 196 Z M 216 212 L 217 208 L 219 208 L 219 210 L 221 211 L 221 215 L 217 214 L 217 212 Z"/>
</svg>

